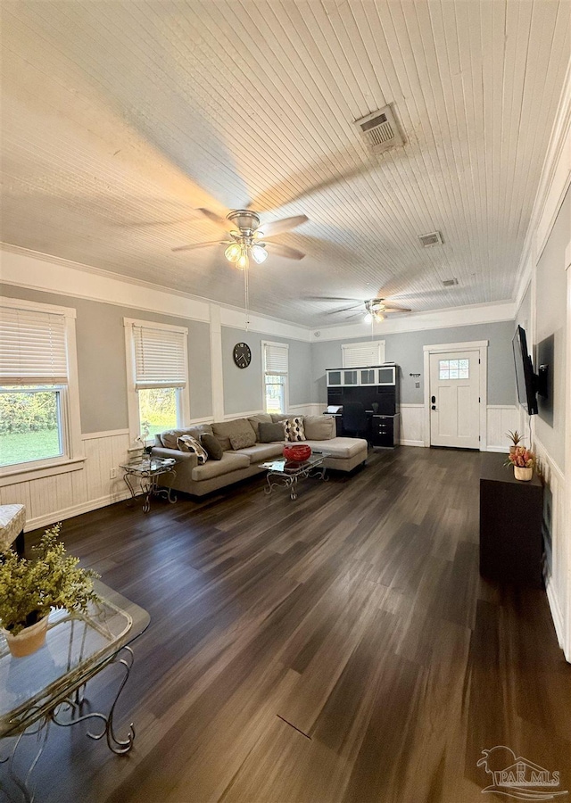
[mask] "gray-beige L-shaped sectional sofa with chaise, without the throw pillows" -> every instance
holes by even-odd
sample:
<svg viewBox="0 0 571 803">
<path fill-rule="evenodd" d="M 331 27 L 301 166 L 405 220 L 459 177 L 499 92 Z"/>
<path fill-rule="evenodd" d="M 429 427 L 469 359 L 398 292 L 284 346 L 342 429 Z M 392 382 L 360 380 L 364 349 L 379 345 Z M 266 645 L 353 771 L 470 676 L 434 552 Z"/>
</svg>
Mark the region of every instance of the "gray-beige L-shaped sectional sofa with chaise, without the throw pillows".
<svg viewBox="0 0 571 803">
<path fill-rule="evenodd" d="M 267 434 L 268 426 L 288 419 L 287 416 L 260 413 L 249 418 L 236 418 L 213 424 L 190 426 L 187 429 L 170 430 L 155 435 L 153 446 L 154 457 L 169 457 L 177 460 L 176 477 L 161 477 L 161 484 L 169 485 L 176 491 L 203 496 L 211 491 L 218 491 L 226 485 L 236 483 L 246 477 L 263 472 L 260 464 L 282 454 L 285 436 L 280 440 L 261 443 L 259 438 Z M 362 438 L 340 438 L 335 436 L 335 418 L 332 416 L 305 416 L 289 420 L 302 419 L 302 443 L 308 443 L 314 451 L 327 452 L 324 460 L 326 468 L 340 471 L 352 471 L 367 459 L 368 443 Z M 279 428 L 279 427 L 278 427 Z M 252 435 L 250 435 L 252 433 Z M 201 436 L 213 435 L 221 447 L 221 459 L 210 456 L 205 462 L 194 451 L 180 451 L 185 446 L 184 435 L 191 435 L 201 442 Z M 189 439 L 186 439 L 189 440 Z M 296 438 L 298 441 L 299 438 Z M 203 439 L 206 443 L 207 439 Z M 238 448 L 234 448 L 233 444 Z M 242 446 L 241 443 L 252 443 Z"/>
</svg>

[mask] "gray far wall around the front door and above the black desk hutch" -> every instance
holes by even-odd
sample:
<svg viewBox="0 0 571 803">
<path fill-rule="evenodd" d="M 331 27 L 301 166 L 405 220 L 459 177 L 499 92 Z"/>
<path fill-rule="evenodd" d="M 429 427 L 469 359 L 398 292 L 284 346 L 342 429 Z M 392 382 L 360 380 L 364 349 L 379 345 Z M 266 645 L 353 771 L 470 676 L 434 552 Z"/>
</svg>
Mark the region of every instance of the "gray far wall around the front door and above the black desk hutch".
<svg viewBox="0 0 571 803">
<path fill-rule="evenodd" d="M 463 343 L 472 340 L 487 340 L 488 346 L 488 404 L 516 403 L 516 375 L 511 350 L 514 325 L 512 321 L 478 324 L 469 327 L 427 329 L 421 332 L 406 332 L 399 335 L 381 335 L 385 340 L 385 360 L 396 362 L 401 367 L 401 402 L 422 404 L 424 402 L 424 352 L 423 346 L 438 343 Z M 367 338 L 355 337 L 313 344 L 311 378 L 311 401 L 327 403 L 326 368 L 342 364 L 343 343 L 364 342 Z M 410 377 L 420 374 L 420 377 Z M 418 388 L 415 384 L 418 382 Z"/>
</svg>

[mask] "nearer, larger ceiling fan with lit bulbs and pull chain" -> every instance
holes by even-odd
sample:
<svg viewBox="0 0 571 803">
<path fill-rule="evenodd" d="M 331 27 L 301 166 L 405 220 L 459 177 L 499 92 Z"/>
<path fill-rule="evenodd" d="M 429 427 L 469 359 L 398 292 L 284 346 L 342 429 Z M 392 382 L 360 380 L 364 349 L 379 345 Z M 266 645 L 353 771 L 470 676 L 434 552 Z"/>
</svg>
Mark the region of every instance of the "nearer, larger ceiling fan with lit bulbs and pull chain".
<svg viewBox="0 0 571 803">
<path fill-rule="evenodd" d="M 190 245 L 178 245 L 173 251 L 192 251 L 194 248 L 206 248 L 209 245 L 226 245 L 224 256 L 229 262 L 236 264 L 236 268 L 245 270 L 250 264 L 250 258 L 254 262 L 264 262 L 268 259 L 269 248 L 279 256 L 289 260 L 302 260 L 305 254 L 289 245 L 279 243 L 263 242 L 268 237 L 281 234 L 284 231 L 291 231 L 292 228 L 301 226 L 309 218 L 307 215 L 295 215 L 293 218 L 282 218 L 272 220 L 269 223 L 260 225 L 260 215 L 248 209 L 235 209 L 228 212 L 226 218 L 220 218 L 216 212 L 210 209 L 198 209 L 204 217 L 211 220 L 219 228 L 224 228 L 228 232 L 225 240 L 212 240 L 209 243 L 193 243 Z"/>
</svg>

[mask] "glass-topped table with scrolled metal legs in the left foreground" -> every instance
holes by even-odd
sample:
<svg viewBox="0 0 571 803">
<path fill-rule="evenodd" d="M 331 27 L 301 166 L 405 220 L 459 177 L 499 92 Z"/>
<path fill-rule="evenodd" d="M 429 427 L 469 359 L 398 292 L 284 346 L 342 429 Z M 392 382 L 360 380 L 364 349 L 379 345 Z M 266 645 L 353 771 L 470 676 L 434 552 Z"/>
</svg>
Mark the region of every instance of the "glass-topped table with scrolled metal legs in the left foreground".
<svg viewBox="0 0 571 803">
<path fill-rule="evenodd" d="M 0 739 L 15 740 L 7 757 L 0 755 L 0 769 L 7 771 L 26 801 L 34 799 L 30 776 L 46 746 L 51 723 L 93 722 L 95 732 L 87 735 L 91 739 L 104 736 L 117 754 L 127 753 L 135 739 L 132 723 L 124 739 L 116 735 L 113 714 L 133 666 L 134 654 L 128 645 L 144 633 L 150 617 L 144 608 L 103 583 L 95 581 L 95 591 L 101 601 L 90 604 L 85 614 L 52 610 L 46 644 L 32 655 L 12 658 L 0 634 Z M 119 688 L 109 713 L 95 712 L 87 704 L 86 684 L 112 664 L 123 670 Z M 14 771 L 14 756 L 26 735 L 36 736 L 37 747 L 21 779 Z"/>
</svg>

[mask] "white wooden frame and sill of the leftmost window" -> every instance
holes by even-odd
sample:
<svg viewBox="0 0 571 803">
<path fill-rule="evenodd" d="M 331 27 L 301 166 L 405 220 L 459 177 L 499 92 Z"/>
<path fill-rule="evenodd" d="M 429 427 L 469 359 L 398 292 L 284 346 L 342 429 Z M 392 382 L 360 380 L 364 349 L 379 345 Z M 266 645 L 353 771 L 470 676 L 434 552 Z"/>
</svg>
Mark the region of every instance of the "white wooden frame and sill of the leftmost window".
<svg viewBox="0 0 571 803">
<path fill-rule="evenodd" d="M 10 466 L 0 466 L 0 487 L 13 484 L 14 478 L 21 475 L 25 475 L 22 481 L 28 481 L 30 479 L 39 478 L 40 476 L 52 476 L 83 468 L 85 452 L 81 437 L 81 419 L 79 413 L 79 374 L 75 327 L 77 317 L 76 310 L 72 307 L 62 307 L 42 302 L 30 302 L 25 299 L 8 298 L 6 296 L 0 296 L 0 307 L 40 312 L 46 315 L 61 315 L 64 321 L 64 336 L 67 353 L 67 385 L 62 385 L 61 383 L 50 385 L 49 382 L 43 382 L 37 385 L 30 384 L 30 387 L 34 388 L 35 393 L 38 392 L 36 388 L 40 387 L 56 389 L 60 393 L 59 434 L 62 443 L 62 454 L 57 457 L 29 460 L 25 463 L 12 463 Z M 3 385 L 2 380 L 0 380 L 0 386 L 13 388 L 14 392 L 17 392 L 19 389 L 23 391 L 23 384 L 22 382 L 21 385 Z"/>
</svg>

